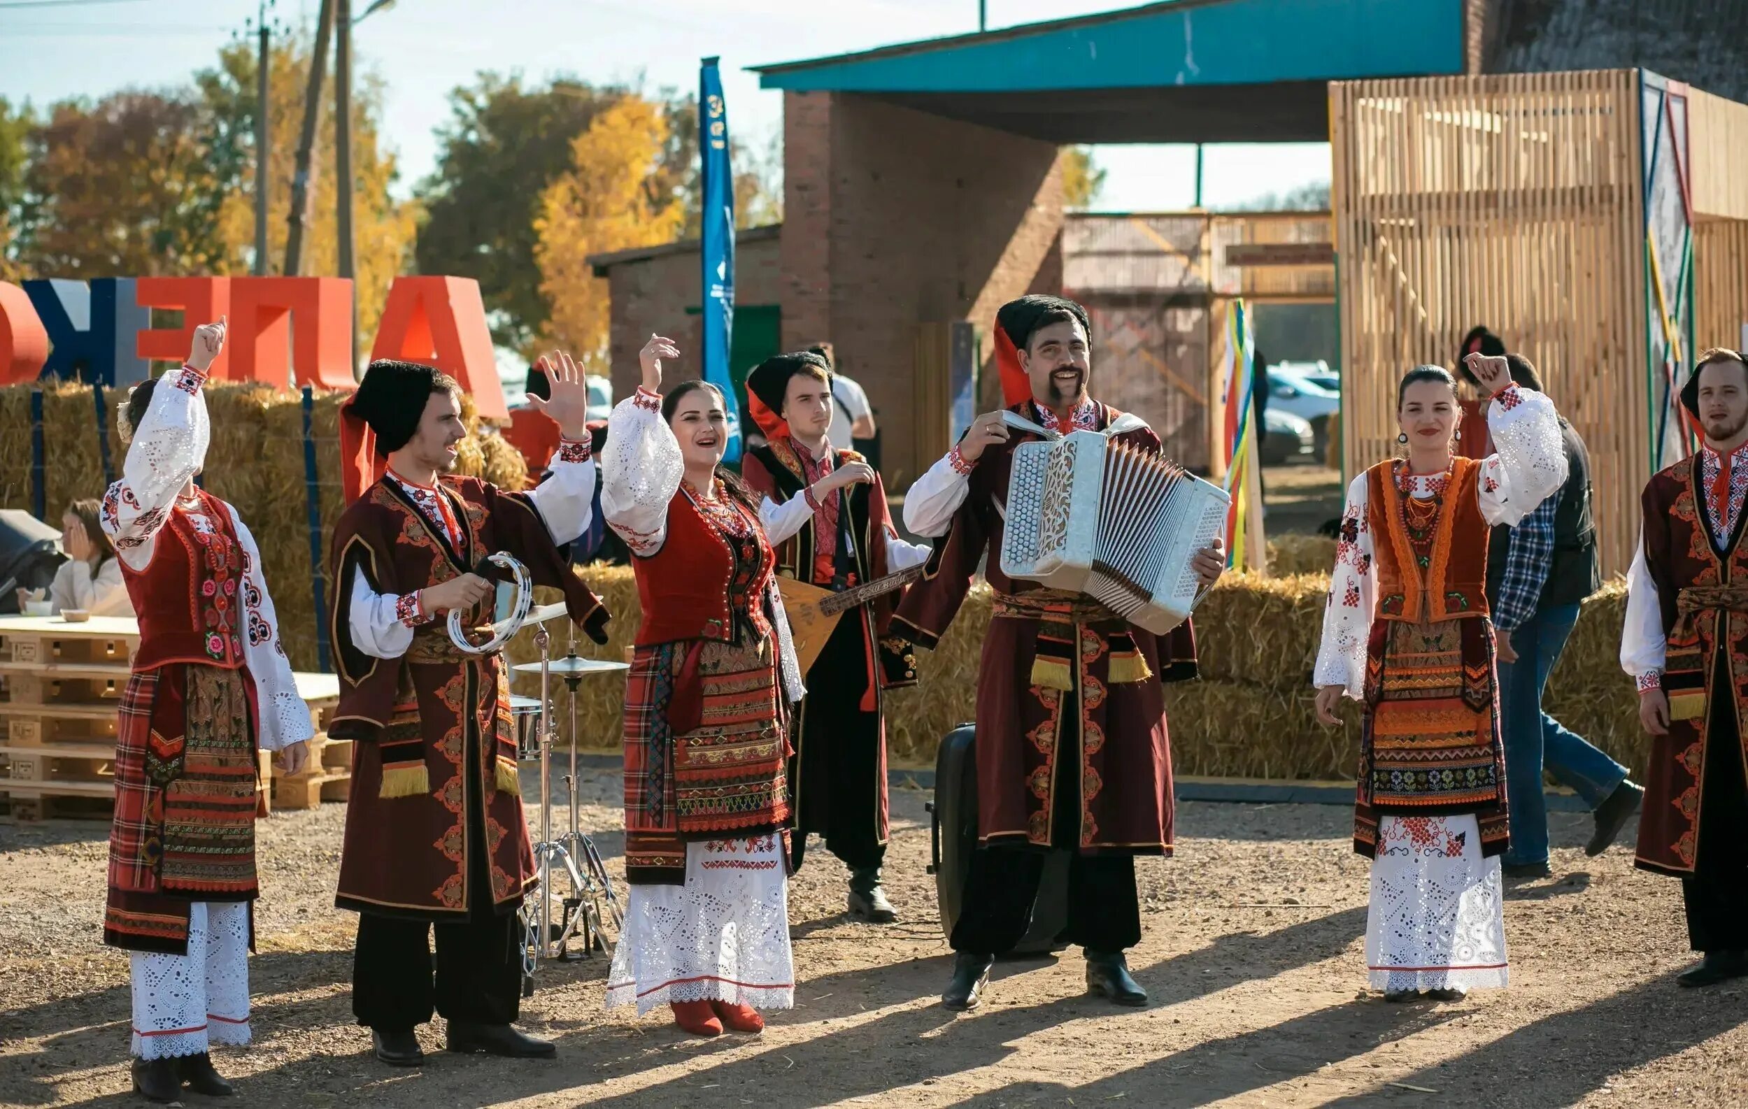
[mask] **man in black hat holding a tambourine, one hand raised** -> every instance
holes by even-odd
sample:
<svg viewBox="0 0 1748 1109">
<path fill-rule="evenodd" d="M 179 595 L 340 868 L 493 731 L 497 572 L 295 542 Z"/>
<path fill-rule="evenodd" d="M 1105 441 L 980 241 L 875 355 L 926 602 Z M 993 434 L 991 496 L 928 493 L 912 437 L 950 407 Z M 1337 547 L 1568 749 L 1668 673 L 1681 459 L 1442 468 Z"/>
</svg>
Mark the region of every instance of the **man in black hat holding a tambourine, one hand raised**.
<svg viewBox="0 0 1748 1109">
<path fill-rule="evenodd" d="M 460 651 L 447 634 L 453 610 L 470 625 L 491 620 L 493 583 L 475 568 L 507 552 L 537 585 L 563 589 L 570 618 L 605 641 L 607 611 L 561 550 L 587 527 L 594 493 L 587 388 L 568 356 L 547 375 L 551 398 L 531 403 L 563 438 L 528 493 L 449 473 L 467 430 L 460 388 L 432 367 L 372 362 L 341 412 L 353 499 L 330 559 L 341 700 L 329 732 L 358 747 L 336 905 L 358 913 L 353 1015 L 392 1065 L 423 1062 L 413 1029 L 434 1008 L 451 1051 L 554 1055 L 510 1027 L 523 987 L 516 910 L 535 868 L 509 681 L 496 653 Z M 385 458 L 386 473 L 364 487 Z"/>
</svg>

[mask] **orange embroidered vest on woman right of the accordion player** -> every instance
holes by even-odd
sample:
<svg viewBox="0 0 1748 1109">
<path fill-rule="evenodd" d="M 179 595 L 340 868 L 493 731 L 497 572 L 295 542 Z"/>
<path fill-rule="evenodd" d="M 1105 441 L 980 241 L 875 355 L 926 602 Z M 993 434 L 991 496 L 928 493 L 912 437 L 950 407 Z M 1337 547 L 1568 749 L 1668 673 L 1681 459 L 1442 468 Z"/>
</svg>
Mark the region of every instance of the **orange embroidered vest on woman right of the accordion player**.
<svg viewBox="0 0 1748 1109">
<path fill-rule="evenodd" d="M 1397 486 L 1395 463 L 1377 463 L 1365 475 L 1377 618 L 1430 623 L 1486 616 L 1491 531 L 1477 496 L 1481 463 L 1451 459 L 1451 475 L 1426 536 L 1411 533 L 1404 505 L 1411 498 Z"/>
</svg>

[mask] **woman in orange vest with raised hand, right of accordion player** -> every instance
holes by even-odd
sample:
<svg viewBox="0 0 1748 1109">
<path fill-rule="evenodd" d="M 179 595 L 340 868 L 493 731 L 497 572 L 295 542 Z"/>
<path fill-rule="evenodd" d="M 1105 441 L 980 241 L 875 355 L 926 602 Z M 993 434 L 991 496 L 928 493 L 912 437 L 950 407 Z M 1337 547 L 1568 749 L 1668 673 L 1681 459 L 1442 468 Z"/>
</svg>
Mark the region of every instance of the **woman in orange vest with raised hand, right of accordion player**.
<svg viewBox="0 0 1748 1109">
<path fill-rule="evenodd" d="M 1468 355 L 1493 396 L 1498 454 L 1456 458 L 1456 382 L 1440 367 L 1397 386 L 1402 458 L 1348 487 L 1316 713 L 1365 704 L 1355 851 L 1372 859 L 1365 929 L 1370 985 L 1386 1001 L 1437 1001 L 1507 982 L 1500 856 L 1507 847 L 1488 538 L 1566 480 L 1543 393 L 1512 384 L 1505 358 Z"/>
</svg>

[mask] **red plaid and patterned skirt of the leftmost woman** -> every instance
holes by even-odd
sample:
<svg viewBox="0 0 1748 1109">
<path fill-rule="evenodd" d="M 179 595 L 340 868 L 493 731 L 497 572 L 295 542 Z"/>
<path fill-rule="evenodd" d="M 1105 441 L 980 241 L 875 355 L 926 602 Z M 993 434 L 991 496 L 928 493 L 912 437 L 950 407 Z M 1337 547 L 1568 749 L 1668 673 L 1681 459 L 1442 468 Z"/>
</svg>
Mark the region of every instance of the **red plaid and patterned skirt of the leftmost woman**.
<svg viewBox="0 0 1748 1109">
<path fill-rule="evenodd" d="M 241 669 L 133 674 L 115 727 L 103 941 L 184 954 L 191 901 L 255 896 L 255 704 Z"/>
</svg>

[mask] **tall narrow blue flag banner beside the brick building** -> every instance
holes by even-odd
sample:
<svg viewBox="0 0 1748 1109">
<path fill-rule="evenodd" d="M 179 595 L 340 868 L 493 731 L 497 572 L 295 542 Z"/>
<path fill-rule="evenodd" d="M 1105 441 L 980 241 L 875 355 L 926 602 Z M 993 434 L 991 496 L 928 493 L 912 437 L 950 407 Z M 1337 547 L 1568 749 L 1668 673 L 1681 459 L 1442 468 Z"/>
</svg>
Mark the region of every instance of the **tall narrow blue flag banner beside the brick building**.
<svg viewBox="0 0 1748 1109">
<path fill-rule="evenodd" d="M 704 381 L 722 389 L 729 405 L 729 444 L 722 461 L 741 459 L 741 414 L 729 372 L 734 334 L 734 173 L 729 168 L 729 112 L 715 58 L 699 66 L 699 154 L 704 159 Z"/>
</svg>

